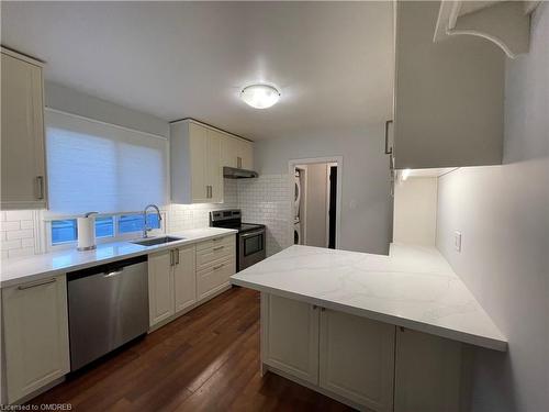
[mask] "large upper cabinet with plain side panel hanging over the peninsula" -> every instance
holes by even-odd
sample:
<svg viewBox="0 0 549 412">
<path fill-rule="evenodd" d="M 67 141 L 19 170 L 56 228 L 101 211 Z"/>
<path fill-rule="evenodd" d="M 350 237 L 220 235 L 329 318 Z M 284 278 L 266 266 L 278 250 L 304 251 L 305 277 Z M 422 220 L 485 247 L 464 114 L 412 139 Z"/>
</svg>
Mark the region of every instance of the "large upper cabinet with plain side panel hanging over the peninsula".
<svg viewBox="0 0 549 412">
<path fill-rule="evenodd" d="M 439 7 L 395 3 L 395 167 L 501 164 L 505 55 L 479 37 L 435 43 Z"/>
</svg>

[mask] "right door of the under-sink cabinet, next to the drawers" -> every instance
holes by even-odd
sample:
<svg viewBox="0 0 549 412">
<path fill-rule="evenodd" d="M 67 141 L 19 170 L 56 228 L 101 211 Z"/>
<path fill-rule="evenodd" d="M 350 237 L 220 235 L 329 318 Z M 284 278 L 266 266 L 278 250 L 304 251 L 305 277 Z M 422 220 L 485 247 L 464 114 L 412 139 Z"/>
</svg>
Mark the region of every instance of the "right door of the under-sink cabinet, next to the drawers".
<svg viewBox="0 0 549 412">
<path fill-rule="evenodd" d="M 173 289 L 176 313 L 197 302 L 197 272 L 194 246 L 176 249 Z"/>
</svg>

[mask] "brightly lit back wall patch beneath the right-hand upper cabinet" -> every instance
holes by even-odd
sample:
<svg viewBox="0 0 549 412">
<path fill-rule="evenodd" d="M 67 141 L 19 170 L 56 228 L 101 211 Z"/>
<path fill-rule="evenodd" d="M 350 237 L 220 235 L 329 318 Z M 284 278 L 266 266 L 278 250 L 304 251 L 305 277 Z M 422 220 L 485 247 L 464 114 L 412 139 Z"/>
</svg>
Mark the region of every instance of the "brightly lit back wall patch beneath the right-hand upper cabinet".
<svg viewBox="0 0 549 412">
<path fill-rule="evenodd" d="M 437 178 L 411 177 L 394 188 L 394 242 L 435 246 Z"/>
</svg>

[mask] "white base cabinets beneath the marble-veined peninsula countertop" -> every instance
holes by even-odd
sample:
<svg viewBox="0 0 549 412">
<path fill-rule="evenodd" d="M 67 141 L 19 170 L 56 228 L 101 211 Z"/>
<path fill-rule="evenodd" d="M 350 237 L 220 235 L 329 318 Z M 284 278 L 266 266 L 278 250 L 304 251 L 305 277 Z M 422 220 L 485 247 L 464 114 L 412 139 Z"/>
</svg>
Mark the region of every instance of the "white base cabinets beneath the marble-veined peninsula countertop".
<svg viewBox="0 0 549 412">
<path fill-rule="evenodd" d="M 470 399 L 469 346 L 261 293 L 261 361 L 361 410 L 461 412 Z"/>
</svg>

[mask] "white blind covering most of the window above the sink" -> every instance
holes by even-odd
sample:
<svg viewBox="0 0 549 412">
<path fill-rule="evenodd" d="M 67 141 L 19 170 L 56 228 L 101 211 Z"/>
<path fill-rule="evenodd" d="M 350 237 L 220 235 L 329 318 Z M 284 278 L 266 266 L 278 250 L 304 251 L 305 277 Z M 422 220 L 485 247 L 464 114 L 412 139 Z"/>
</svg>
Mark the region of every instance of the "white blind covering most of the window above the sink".
<svg viewBox="0 0 549 412">
<path fill-rule="evenodd" d="M 53 110 L 45 120 L 53 214 L 166 204 L 166 138 Z"/>
</svg>

